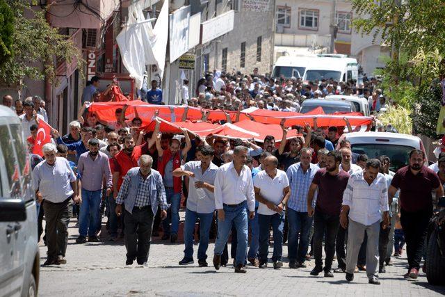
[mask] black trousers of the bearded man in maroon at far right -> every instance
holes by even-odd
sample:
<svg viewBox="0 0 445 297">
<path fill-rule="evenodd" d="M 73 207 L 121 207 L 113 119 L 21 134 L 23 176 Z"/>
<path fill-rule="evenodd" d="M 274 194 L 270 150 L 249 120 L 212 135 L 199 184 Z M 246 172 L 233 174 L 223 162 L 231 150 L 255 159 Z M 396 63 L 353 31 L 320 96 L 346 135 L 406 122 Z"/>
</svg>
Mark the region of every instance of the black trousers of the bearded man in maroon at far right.
<svg viewBox="0 0 445 297">
<path fill-rule="evenodd" d="M 401 209 L 401 224 L 405 234 L 406 255 L 409 269 L 419 270 L 425 248 L 428 223 L 432 217 L 432 207 L 421 211 L 405 211 Z"/>
</svg>

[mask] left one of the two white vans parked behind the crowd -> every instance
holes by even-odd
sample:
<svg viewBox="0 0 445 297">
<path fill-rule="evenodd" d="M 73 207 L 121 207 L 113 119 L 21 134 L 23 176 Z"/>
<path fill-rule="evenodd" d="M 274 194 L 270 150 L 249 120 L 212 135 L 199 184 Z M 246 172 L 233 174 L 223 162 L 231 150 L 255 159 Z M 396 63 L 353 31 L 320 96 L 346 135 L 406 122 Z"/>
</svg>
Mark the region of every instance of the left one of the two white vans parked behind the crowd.
<svg viewBox="0 0 445 297">
<path fill-rule="evenodd" d="M 309 61 L 313 58 L 312 56 L 281 56 L 273 66 L 272 77 L 274 79 L 302 78 Z"/>
</svg>

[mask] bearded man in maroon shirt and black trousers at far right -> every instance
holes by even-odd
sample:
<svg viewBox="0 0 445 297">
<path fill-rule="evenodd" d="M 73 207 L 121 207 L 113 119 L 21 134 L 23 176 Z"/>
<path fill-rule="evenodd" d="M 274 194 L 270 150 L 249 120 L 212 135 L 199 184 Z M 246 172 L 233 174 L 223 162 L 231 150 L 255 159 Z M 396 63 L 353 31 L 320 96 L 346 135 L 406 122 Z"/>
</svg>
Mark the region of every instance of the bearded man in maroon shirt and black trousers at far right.
<svg viewBox="0 0 445 297">
<path fill-rule="evenodd" d="M 388 189 L 389 202 L 400 188 L 401 224 L 405 234 L 408 273 L 405 278 L 416 279 L 419 275 L 428 223 L 432 216 L 432 191 L 436 197 L 444 195 L 444 188 L 436 172 L 423 166 L 425 153 L 410 152 L 410 165 L 399 169 Z"/>
</svg>

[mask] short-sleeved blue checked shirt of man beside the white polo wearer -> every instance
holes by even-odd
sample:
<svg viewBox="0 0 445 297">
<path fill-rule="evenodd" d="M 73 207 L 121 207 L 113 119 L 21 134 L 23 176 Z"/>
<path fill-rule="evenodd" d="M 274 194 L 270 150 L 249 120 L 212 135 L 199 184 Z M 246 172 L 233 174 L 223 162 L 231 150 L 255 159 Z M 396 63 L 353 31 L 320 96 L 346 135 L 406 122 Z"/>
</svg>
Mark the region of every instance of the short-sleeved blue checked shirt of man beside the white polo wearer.
<svg viewBox="0 0 445 297">
<path fill-rule="evenodd" d="M 291 187 L 291 197 L 287 202 L 287 207 L 294 211 L 307 212 L 307 193 L 319 168 L 310 163 L 306 172 L 303 172 L 300 164 L 299 162 L 291 165 L 286 172 Z"/>
</svg>

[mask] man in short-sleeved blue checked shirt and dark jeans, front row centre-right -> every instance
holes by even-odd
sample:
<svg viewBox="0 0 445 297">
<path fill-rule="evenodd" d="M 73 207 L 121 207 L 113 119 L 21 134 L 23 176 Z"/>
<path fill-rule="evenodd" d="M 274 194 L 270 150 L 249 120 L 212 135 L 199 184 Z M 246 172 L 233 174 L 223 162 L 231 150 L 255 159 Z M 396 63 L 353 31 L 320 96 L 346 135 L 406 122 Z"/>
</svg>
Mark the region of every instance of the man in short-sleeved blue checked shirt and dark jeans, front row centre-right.
<svg viewBox="0 0 445 297">
<path fill-rule="evenodd" d="M 300 150 L 300 163 L 291 165 L 286 172 L 291 187 L 291 197 L 286 205 L 289 221 L 289 268 L 306 267 L 305 256 L 312 227 L 312 216 L 307 215 L 307 193 L 319 169 L 311 163 L 311 159 L 312 150 L 303 147 Z"/>
</svg>

